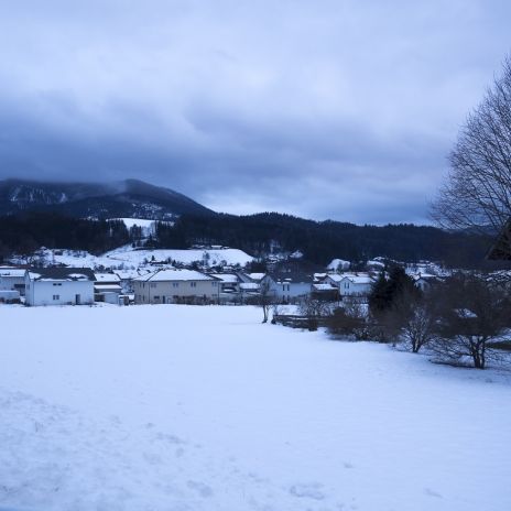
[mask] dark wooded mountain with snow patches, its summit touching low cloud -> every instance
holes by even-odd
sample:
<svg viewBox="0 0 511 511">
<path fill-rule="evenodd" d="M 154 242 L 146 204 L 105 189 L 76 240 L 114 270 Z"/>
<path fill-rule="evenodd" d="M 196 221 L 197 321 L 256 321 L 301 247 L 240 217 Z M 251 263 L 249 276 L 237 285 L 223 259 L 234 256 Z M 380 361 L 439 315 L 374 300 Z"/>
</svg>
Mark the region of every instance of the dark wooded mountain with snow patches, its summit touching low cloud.
<svg viewBox="0 0 511 511">
<path fill-rule="evenodd" d="M 138 180 L 106 184 L 1 181 L 0 215 L 29 210 L 98 219 L 165 219 L 184 214 L 213 214 L 210 209 L 183 194 Z"/>
</svg>

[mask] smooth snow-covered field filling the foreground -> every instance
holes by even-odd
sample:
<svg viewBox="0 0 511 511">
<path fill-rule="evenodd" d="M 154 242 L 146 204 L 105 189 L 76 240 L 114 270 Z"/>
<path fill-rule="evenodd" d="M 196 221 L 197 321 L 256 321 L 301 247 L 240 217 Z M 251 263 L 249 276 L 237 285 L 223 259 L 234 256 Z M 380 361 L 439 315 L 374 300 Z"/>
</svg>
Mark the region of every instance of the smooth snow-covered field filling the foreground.
<svg viewBox="0 0 511 511">
<path fill-rule="evenodd" d="M 0 307 L 0 509 L 511 509 L 508 374 L 260 319 Z"/>
</svg>

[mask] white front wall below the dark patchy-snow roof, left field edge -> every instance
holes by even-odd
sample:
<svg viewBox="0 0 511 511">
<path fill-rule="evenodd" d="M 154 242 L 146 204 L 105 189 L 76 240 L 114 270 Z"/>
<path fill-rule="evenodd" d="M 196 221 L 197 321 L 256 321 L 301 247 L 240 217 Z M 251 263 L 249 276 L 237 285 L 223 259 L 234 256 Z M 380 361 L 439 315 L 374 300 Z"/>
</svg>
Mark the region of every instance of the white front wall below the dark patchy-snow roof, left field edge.
<svg viewBox="0 0 511 511">
<path fill-rule="evenodd" d="M 26 305 L 76 305 L 76 295 L 80 305 L 94 304 L 93 281 L 28 281 L 26 285 Z"/>
</svg>

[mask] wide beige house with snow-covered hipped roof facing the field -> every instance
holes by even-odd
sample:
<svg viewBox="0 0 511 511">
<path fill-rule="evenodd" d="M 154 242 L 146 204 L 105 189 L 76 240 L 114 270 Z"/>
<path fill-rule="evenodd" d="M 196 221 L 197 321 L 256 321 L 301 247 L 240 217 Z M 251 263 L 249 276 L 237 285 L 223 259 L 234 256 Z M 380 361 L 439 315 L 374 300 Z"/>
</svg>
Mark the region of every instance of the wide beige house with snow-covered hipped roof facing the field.
<svg viewBox="0 0 511 511">
<path fill-rule="evenodd" d="M 220 283 L 196 270 L 156 270 L 133 279 L 134 303 L 218 303 Z"/>
</svg>

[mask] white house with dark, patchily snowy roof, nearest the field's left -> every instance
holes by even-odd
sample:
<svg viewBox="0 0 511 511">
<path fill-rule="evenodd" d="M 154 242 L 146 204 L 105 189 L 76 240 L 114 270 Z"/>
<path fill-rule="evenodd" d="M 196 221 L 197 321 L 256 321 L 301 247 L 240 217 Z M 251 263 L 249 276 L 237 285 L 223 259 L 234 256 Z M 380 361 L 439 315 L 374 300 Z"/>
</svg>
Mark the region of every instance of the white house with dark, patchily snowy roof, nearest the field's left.
<svg viewBox="0 0 511 511">
<path fill-rule="evenodd" d="M 91 305 L 95 276 L 89 268 L 34 268 L 25 271 L 26 305 Z"/>
</svg>

